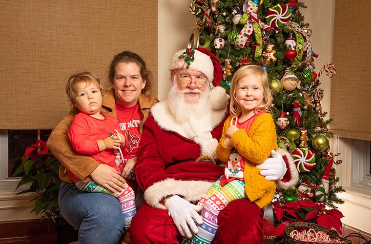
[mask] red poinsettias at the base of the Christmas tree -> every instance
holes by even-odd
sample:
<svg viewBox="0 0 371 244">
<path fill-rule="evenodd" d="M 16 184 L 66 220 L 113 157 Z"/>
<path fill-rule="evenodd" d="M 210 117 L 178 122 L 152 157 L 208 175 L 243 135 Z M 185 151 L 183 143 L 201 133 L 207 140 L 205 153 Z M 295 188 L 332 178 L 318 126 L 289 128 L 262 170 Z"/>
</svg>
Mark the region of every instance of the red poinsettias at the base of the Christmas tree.
<svg viewBox="0 0 371 244">
<path fill-rule="evenodd" d="M 326 209 L 322 202 L 313 202 L 309 200 L 300 200 L 289 203 L 272 203 L 277 221 L 280 223 L 276 228 L 276 235 L 283 237 L 285 227 L 294 222 L 310 222 L 325 226 L 329 229 L 332 227 L 341 234 L 341 221 L 343 214 L 337 209 Z"/>
</svg>

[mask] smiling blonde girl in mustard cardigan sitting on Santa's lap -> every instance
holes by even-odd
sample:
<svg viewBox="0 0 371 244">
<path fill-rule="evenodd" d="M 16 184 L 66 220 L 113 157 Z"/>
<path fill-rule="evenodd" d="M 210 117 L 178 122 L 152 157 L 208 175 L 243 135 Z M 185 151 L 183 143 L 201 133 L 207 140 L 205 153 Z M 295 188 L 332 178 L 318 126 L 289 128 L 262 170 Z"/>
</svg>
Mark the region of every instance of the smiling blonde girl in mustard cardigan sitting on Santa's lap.
<svg viewBox="0 0 371 244">
<path fill-rule="evenodd" d="M 276 183 L 259 174 L 257 163 L 263 163 L 271 150 L 277 149 L 273 118 L 268 113 L 272 95 L 266 71 L 257 65 L 241 67 L 230 85 L 231 116 L 224 123 L 223 134 L 216 149 L 220 161 L 227 163 L 225 174 L 204 194 L 198 205 L 204 205 L 204 224 L 192 243 L 211 243 L 217 228 L 218 215 L 228 203 L 248 198 L 260 208 L 273 198 Z"/>
</svg>

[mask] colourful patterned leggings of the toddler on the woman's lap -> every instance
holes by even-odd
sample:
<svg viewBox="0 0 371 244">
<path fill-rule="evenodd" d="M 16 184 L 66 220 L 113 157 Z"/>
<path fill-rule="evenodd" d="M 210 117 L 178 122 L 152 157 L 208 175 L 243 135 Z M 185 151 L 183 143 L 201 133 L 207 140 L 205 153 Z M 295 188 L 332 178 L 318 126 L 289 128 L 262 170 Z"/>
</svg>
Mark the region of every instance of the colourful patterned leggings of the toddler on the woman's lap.
<svg viewBox="0 0 371 244">
<path fill-rule="evenodd" d="M 76 187 L 85 192 L 105 193 L 114 196 L 119 200 L 123 210 L 124 228 L 125 230 L 130 226 L 131 219 L 137 212 L 135 208 L 135 194 L 133 189 L 125 183 L 124 189 L 121 192 L 111 192 L 101 185 L 90 181 L 88 183 L 75 182 Z M 92 203 L 94 204 L 94 203 Z"/>
</svg>

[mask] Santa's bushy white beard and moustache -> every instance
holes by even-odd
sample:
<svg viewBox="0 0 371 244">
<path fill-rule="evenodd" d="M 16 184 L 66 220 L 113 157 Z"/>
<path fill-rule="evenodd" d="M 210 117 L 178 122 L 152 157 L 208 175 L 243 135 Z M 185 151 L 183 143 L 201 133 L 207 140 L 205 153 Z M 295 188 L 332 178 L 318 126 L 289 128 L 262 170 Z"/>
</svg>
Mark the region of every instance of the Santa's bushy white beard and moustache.
<svg viewBox="0 0 371 244">
<path fill-rule="evenodd" d="M 197 97 L 188 98 L 192 103 L 187 102 L 185 95 L 188 92 L 199 93 L 198 101 Z M 211 106 L 208 102 L 208 96 L 210 89 L 206 87 L 204 92 L 199 89 L 184 89 L 179 90 L 176 83 L 171 87 L 167 96 L 168 106 L 170 111 L 178 122 L 189 122 L 189 119 L 193 118 L 204 118 L 206 115 L 211 114 Z"/>
</svg>

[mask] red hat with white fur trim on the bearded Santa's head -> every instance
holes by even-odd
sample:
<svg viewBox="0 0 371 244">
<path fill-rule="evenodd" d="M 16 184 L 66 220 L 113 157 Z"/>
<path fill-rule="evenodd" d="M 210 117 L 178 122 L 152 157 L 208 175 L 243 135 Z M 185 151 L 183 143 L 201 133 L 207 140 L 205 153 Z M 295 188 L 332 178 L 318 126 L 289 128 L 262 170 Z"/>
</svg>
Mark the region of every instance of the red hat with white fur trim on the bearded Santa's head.
<svg viewBox="0 0 371 244">
<path fill-rule="evenodd" d="M 187 48 L 176 52 L 171 60 L 169 70 L 186 69 L 185 56 L 191 56 L 192 50 L 194 50 L 193 61 L 190 59 L 188 68 L 202 72 L 206 76 L 207 82 L 218 86 L 222 78 L 222 67 L 219 59 L 206 48 Z"/>
</svg>

